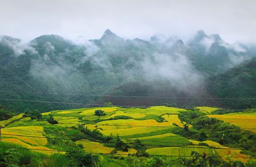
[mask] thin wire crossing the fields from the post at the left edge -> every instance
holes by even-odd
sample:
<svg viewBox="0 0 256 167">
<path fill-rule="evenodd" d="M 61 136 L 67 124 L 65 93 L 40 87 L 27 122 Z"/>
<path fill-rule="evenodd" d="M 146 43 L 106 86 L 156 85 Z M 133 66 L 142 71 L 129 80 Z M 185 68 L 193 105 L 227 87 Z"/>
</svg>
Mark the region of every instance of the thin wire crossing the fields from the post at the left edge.
<svg viewBox="0 0 256 167">
<path fill-rule="evenodd" d="M 120 144 L 120 142 L 107 142 L 107 141 L 96 141 L 96 140 L 93 141 L 93 140 L 63 139 L 63 138 L 41 137 L 41 136 L 28 136 L 28 135 L 18 135 L 18 134 L 2 134 L 2 135 L 22 136 L 22 137 L 34 137 L 34 138 L 55 139 L 55 140 L 75 140 L 75 141 L 87 141 L 87 142 L 99 142 L 99 143 Z M 249 151 L 256 151 L 256 149 L 206 148 L 206 147 L 169 146 L 169 145 L 135 144 L 135 143 L 126 143 L 126 144 L 131 144 L 131 145 L 144 145 L 144 146 L 159 146 L 159 147 L 185 147 L 185 148 L 204 148 L 204 149 L 223 149 L 223 150 L 249 150 Z"/>
</svg>

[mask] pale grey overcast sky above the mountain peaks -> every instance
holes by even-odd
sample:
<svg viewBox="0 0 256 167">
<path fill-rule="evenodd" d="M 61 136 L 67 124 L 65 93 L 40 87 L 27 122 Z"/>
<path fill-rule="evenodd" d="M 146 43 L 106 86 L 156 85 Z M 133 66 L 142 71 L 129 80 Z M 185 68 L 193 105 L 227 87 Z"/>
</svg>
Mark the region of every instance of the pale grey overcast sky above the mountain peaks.
<svg viewBox="0 0 256 167">
<path fill-rule="evenodd" d="M 256 0 L 0 0 L 0 34 L 98 39 L 106 29 L 148 40 L 155 33 L 185 40 L 197 30 L 256 42 Z"/>
</svg>

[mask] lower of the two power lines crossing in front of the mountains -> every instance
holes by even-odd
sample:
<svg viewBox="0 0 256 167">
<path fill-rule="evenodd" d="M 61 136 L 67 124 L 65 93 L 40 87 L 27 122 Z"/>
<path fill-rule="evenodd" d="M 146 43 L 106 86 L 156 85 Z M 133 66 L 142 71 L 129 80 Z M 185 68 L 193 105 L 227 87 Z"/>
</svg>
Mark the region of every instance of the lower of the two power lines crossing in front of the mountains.
<svg viewBox="0 0 256 167">
<path fill-rule="evenodd" d="M 102 94 L 62 94 L 47 92 L 22 92 L 22 91 L 5 91 L 6 93 L 24 93 L 24 94 L 55 94 L 55 95 L 79 95 L 79 96 L 103 96 L 103 97 L 132 97 L 132 98 L 169 98 L 169 99 L 230 99 L 230 100 L 256 100 L 256 98 L 210 98 L 210 97 L 162 97 L 162 96 L 122 96 L 122 95 L 102 95 Z"/>
</svg>

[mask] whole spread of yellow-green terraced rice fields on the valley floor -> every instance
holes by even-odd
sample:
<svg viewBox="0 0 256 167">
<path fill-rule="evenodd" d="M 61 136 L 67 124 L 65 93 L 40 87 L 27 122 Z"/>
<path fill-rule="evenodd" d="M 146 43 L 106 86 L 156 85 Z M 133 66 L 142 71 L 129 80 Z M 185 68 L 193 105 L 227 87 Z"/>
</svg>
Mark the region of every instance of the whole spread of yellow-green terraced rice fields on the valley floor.
<svg viewBox="0 0 256 167">
<path fill-rule="evenodd" d="M 217 110 L 218 108 L 212 107 L 197 107 L 201 112 L 210 114 L 211 112 Z M 96 116 L 94 112 L 96 109 L 101 109 L 105 111 L 105 116 Z M 213 151 L 219 156 L 226 156 L 229 154 L 229 150 L 207 148 L 204 146 L 198 146 L 199 141 L 188 140 L 179 135 L 172 134 L 174 128 L 183 127 L 185 122 L 181 122 L 178 118 L 180 112 L 185 111 L 184 109 L 179 109 L 175 107 L 165 107 L 156 106 L 149 108 L 120 108 L 120 107 L 95 107 L 95 108 L 81 108 L 74 110 L 65 111 L 52 111 L 43 115 L 43 118 L 48 118 L 48 115 L 53 115 L 54 119 L 59 122 L 59 124 L 51 125 L 46 120 L 38 121 L 31 120 L 30 117 L 22 118 L 22 114 L 13 117 L 12 119 L 0 121 L 1 124 L 8 123 L 6 128 L 2 129 L 2 137 L 5 142 L 13 142 L 25 146 L 27 148 L 33 149 L 47 149 L 52 150 L 50 147 L 47 148 L 46 138 L 33 138 L 33 137 L 23 137 L 23 136 L 8 136 L 4 134 L 15 134 L 15 135 L 33 135 L 44 137 L 43 133 L 30 133 L 25 131 L 38 131 L 43 132 L 44 128 L 58 127 L 57 129 L 66 128 L 71 130 L 73 126 L 77 127 L 77 124 L 82 124 L 86 122 L 85 127 L 90 130 L 98 129 L 104 135 L 117 134 L 121 139 L 130 140 L 144 140 L 142 144 L 146 145 L 163 145 L 162 147 L 156 146 L 146 146 L 147 152 L 150 155 L 181 155 L 190 156 L 192 151 L 198 151 L 202 153 L 203 151 L 213 154 Z M 116 120 L 116 116 L 128 116 L 133 119 L 128 120 Z M 224 114 L 224 115 L 208 115 L 209 117 L 214 117 L 220 120 L 227 121 L 229 123 L 234 123 L 242 128 L 256 128 L 256 113 L 235 113 L 235 114 Z M 162 118 L 164 122 L 161 122 Z M 246 119 L 240 120 L 240 119 Z M 21 121 L 20 121 L 21 120 Z M 161 120 L 161 121 L 160 121 Z M 159 122 L 157 122 L 159 121 Z M 88 124 L 91 123 L 91 124 Z M 176 125 L 175 125 L 176 124 Z M 133 127 L 134 126 L 134 127 Z M 168 128 L 171 127 L 171 128 Z M 24 131 L 16 131 L 24 130 Z M 66 130 L 67 130 L 66 129 Z M 73 129 L 73 131 L 75 131 Z M 76 134 L 79 134 L 76 133 Z M 147 140 L 147 141 L 145 141 Z M 209 145 L 214 145 L 215 147 L 223 147 L 214 141 L 204 141 Z M 94 141 L 76 141 L 77 144 L 82 144 L 84 146 L 85 152 L 88 153 L 112 153 L 115 151 L 114 147 L 105 147 L 103 143 Z M 175 147 L 175 146 L 188 146 L 187 147 Z M 195 148 L 203 147 L 203 148 Z M 241 150 L 232 150 L 231 154 L 236 154 L 236 156 L 248 156 L 240 153 Z M 128 152 L 117 151 L 116 154 L 135 154 L 137 151 L 135 149 L 128 149 Z M 47 154 L 53 154 L 55 152 L 45 152 Z M 115 153 L 115 152 L 114 152 Z M 247 159 L 239 158 L 239 160 L 247 161 Z"/>
</svg>

